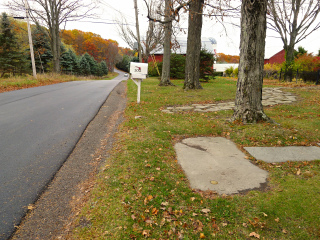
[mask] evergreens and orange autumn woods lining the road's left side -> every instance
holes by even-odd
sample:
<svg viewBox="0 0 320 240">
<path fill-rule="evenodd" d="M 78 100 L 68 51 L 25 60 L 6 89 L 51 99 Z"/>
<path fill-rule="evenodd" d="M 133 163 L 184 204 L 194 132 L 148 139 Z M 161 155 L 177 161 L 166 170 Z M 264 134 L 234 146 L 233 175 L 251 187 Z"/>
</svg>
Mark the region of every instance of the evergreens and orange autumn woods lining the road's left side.
<svg viewBox="0 0 320 240">
<path fill-rule="evenodd" d="M 38 73 L 54 71 L 53 53 L 48 30 L 35 24 L 31 26 L 34 58 Z M 114 40 L 79 30 L 63 30 L 59 71 L 74 75 L 104 76 L 113 71 L 114 65 L 126 54 Z M 6 13 L 0 19 L 0 72 L 5 74 L 24 74 L 31 71 L 31 57 L 28 45 L 27 26 Z"/>
</svg>

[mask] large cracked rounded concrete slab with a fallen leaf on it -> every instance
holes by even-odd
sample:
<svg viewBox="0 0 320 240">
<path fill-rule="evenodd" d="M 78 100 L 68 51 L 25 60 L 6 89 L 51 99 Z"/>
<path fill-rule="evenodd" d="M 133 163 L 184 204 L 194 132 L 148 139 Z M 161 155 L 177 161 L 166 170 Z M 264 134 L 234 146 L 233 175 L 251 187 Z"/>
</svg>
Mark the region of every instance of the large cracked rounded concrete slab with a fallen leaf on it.
<svg viewBox="0 0 320 240">
<path fill-rule="evenodd" d="M 245 159 L 226 138 L 188 138 L 177 143 L 175 150 L 194 189 L 228 195 L 260 188 L 267 182 L 268 172 Z"/>
</svg>

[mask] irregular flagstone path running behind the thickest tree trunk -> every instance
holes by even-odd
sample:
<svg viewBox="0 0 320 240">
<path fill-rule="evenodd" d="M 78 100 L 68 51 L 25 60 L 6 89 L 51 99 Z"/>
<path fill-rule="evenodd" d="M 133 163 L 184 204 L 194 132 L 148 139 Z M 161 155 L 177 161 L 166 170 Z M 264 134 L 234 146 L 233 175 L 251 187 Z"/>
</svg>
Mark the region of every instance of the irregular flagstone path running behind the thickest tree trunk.
<svg viewBox="0 0 320 240">
<path fill-rule="evenodd" d="M 281 88 L 263 88 L 262 105 L 272 106 L 277 104 L 288 104 L 296 101 L 296 97 L 290 92 L 283 92 Z M 181 111 L 194 112 L 217 112 L 221 110 L 232 110 L 234 102 L 221 102 L 211 104 L 192 104 L 191 106 L 167 107 L 164 113 L 175 113 Z"/>
</svg>

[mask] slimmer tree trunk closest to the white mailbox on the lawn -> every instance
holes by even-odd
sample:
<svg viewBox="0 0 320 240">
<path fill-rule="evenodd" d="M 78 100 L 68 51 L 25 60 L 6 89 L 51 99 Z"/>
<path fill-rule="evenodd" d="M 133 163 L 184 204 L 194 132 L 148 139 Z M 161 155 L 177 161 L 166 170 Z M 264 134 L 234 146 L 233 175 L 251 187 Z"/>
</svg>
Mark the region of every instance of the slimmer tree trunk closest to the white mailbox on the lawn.
<svg viewBox="0 0 320 240">
<path fill-rule="evenodd" d="M 170 4 L 171 0 L 165 1 L 165 16 L 166 21 L 170 18 Z M 170 56 L 171 56 L 171 32 L 172 21 L 168 21 L 165 24 L 164 30 L 164 43 L 163 43 L 163 63 L 162 74 L 159 86 L 174 86 L 170 81 Z"/>
</svg>

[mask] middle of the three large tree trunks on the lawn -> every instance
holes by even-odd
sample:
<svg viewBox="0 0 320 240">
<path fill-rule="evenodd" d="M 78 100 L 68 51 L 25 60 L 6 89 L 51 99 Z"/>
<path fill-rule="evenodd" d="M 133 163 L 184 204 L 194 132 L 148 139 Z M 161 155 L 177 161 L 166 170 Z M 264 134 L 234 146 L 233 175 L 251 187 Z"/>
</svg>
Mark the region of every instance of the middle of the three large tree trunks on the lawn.
<svg viewBox="0 0 320 240">
<path fill-rule="evenodd" d="M 204 0 L 194 0 L 189 4 L 185 90 L 202 89 L 199 77 L 203 3 Z"/>
</svg>

